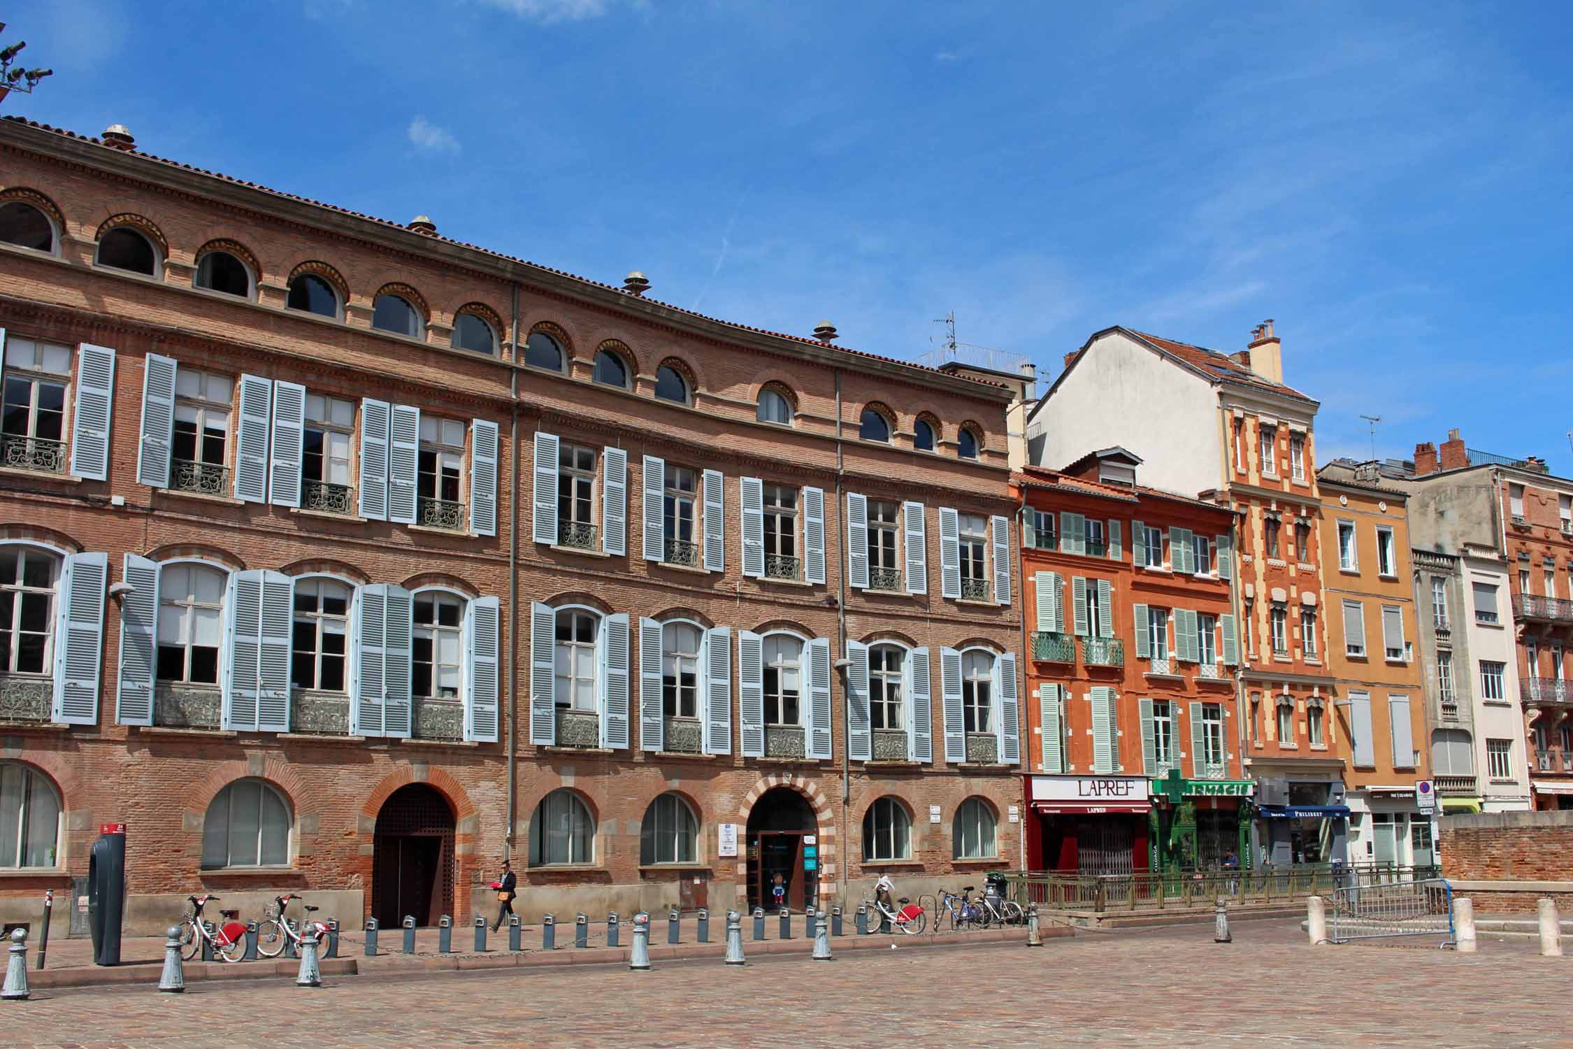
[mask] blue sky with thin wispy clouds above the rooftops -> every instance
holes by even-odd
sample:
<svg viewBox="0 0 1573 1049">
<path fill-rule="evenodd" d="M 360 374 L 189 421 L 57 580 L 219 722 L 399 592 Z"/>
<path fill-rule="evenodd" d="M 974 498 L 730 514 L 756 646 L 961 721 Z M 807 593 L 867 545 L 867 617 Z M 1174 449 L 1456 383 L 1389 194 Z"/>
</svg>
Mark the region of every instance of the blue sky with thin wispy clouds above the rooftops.
<svg viewBox="0 0 1573 1049">
<path fill-rule="evenodd" d="M 1246 8 L 1260 8 L 1247 11 Z M 9 5 L 0 113 L 653 297 L 1052 379 L 1111 324 L 1277 321 L 1318 451 L 1573 475 L 1573 6 Z"/>
</svg>

